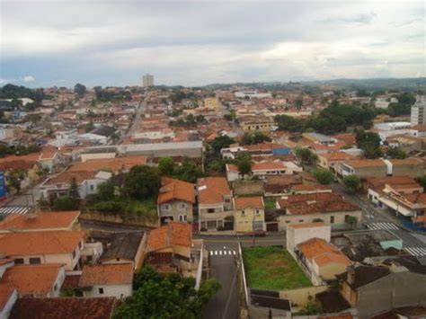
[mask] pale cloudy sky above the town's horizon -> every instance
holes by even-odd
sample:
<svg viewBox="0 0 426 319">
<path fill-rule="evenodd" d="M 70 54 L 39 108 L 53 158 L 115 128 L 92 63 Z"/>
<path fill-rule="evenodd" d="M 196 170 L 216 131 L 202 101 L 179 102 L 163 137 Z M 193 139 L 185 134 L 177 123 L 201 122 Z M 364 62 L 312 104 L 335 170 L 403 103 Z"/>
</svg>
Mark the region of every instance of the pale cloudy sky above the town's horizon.
<svg viewBox="0 0 426 319">
<path fill-rule="evenodd" d="M 426 76 L 426 2 L 0 1 L 0 85 Z"/>
</svg>

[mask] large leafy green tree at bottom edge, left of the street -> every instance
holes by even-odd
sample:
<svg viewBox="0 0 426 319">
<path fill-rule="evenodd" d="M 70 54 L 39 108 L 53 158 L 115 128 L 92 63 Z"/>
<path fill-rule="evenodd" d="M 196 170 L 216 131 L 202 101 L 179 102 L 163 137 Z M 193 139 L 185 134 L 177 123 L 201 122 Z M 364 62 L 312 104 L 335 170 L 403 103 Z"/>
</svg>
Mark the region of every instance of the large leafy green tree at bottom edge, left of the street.
<svg viewBox="0 0 426 319">
<path fill-rule="evenodd" d="M 209 302 L 220 285 L 216 279 L 194 288 L 193 278 L 172 273 L 162 278 L 154 270 L 142 269 L 136 276 L 133 295 L 117 307 L 114 318 L 199 318 L 201 307 Z"/>
</svg>

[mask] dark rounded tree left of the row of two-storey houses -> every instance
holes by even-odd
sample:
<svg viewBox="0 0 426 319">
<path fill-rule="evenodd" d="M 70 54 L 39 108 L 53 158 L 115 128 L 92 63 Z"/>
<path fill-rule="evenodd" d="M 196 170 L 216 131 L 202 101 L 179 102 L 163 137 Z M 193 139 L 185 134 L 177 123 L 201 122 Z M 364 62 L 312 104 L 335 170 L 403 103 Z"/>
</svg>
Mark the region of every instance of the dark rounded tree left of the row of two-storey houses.
<svg viewBox="0 0 426 319">
<path fill-rule="evenodd" d="M 126 173 L 121 192 L 133 199 L 156 199 L 160 184 L 156 167 L 136 165 Z"/>
</svg>

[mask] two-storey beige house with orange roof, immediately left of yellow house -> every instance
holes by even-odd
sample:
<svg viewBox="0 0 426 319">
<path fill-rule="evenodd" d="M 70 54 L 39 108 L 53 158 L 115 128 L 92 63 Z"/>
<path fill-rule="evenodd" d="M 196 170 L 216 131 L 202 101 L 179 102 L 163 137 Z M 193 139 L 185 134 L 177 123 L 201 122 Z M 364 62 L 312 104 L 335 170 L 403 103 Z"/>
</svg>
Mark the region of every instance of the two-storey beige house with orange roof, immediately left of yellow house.
<svg viewBox="0 0 426 319">
<path fill-rule="evenodd" d="M 200 230 L 216 230 L 233 216 L 232 191 L 223 177 L 205 177 L 197 181 Z"/>
</svg>

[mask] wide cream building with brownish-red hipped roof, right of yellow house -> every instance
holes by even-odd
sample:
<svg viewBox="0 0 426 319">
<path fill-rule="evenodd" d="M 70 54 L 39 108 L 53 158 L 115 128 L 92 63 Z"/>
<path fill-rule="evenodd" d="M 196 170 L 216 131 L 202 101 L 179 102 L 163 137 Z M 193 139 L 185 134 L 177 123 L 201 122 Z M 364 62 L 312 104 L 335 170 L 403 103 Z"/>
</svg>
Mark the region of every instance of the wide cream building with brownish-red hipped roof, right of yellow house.
<svg viewBox="0 0 426 319">
<path fill-rule="evenodd" d="M 284 196 L 277 201 L 277 208 L 284 211 L 278 217 L 279 230 L 288 224 L 323 221 L 333 229 L 347 226 L 349 217 L 361 219 L 361 209 L 334 192 L 315 192 Z"/>
</svg>

